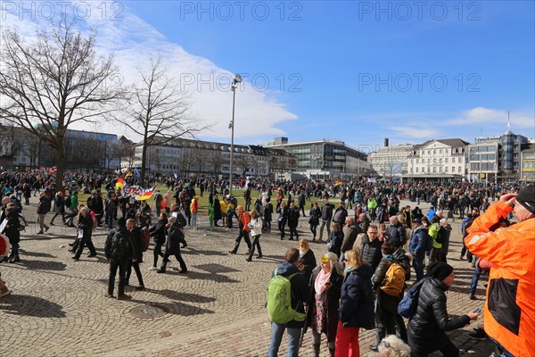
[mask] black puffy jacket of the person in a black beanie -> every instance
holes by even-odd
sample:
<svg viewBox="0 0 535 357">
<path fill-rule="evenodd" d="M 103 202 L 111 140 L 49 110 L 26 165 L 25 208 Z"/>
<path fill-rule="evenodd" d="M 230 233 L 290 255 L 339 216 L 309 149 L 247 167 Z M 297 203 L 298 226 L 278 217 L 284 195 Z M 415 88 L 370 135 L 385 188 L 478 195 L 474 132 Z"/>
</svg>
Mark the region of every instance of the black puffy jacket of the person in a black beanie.
<svg viewBox="0 0 535 357">
<path fill-rule="evenodd" d="M 407 333 L 414 345 L 430 349 L 439 344 L 445 331 L 462 328 L 470 323 L 467 315 L 449 319 L 446 310 L 448 286 L 437 278 L 422 283 L 416 313 L 408 321 Z"/>
</svg>

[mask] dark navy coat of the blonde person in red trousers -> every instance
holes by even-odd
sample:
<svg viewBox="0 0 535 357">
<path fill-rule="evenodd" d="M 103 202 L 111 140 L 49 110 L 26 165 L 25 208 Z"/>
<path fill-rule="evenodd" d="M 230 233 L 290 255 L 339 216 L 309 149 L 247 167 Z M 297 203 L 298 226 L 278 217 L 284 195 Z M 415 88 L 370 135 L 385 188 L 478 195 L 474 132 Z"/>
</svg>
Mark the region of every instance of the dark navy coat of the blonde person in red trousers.
<svg viewBox="0 0 535 357">
<path fill-rule="evenodd" d="M 365 264 L 351 270 L 345 278 L 338 315 L 344 328 L 374 328 L 373 274 L 374 270 Z"/>
</svg>

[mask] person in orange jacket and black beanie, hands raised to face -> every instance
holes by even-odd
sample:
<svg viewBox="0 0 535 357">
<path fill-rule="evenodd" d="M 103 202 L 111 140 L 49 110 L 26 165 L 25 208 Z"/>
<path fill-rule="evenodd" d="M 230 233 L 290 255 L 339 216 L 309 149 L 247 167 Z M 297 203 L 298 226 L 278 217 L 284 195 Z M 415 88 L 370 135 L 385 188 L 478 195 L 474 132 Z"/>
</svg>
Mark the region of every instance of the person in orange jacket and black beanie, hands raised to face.
<svg viewBox="0 0 535 357">
<path fill-rule="evenodd" d="M 510 212 L 518 223 L 490 231 Z M 465 245 L 491 263 L 485 332 L 498 355 L 535 356 L 535 186 L 506 194 L 468 228 Z"/>
</svg>

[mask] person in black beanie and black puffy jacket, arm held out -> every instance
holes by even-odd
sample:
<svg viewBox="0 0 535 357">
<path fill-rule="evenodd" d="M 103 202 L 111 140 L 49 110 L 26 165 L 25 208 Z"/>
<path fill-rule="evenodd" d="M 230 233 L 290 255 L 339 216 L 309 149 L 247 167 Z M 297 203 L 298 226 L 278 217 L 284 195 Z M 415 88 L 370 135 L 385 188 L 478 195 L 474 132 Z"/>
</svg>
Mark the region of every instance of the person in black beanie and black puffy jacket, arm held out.
<svg viewBox="0 0 535 357">
<path fill-rule="evenodd" d="M 463 328 L 477 320 L 479 312 L 449 319 L 446 310 L 446 291 L 453 285 L 453 267 L 445 262 L 432 262 L 427 277 L 422 281 L 416 313 L 408 320 L 408 345 L 411 357 L 424 357 L 435 351 L 444 356 L 458 356 L 459 349 L 450 340 L 446 331 Z M 486 323 L 486 321 L 485 321 Z"/>
</svg>

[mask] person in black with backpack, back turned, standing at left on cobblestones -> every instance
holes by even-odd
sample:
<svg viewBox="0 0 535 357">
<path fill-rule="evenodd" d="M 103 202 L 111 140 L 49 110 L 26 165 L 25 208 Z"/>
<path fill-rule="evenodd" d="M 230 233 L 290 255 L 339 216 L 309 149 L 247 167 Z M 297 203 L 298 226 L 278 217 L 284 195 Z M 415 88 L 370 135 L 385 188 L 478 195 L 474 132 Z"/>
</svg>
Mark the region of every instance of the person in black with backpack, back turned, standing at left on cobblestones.
<svg viewBox="0 0 535 357">
<path fill-rule="evenodd" d="M 128 239 L 127 220 L 124 217 L 117 221 L 119 228 L 112 229 L 104 245 L 106 260 L 110 263 L 110 278 L 108 280 L 108 297 L 113 296 L 115 287 L 115 276 L 119 269 L 119 291 L 118 300 L 131 299 L 132 296 L 125 295 L 125 280 L 127 275 L 128 262 L 132 260 L 132 247 Z"/>
</svg>

